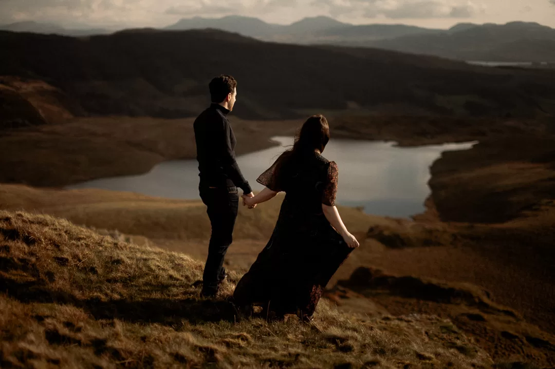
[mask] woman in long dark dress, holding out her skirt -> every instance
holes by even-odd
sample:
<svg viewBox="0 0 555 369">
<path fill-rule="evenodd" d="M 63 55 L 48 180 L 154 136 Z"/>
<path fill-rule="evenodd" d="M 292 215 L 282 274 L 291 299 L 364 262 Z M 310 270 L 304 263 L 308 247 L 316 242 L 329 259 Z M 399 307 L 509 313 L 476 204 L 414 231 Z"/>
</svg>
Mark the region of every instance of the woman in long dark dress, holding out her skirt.
<svg viewBox="0 0 555 369">
<path fill-rule="evenodd" d="M 266 188 L 243 197 L 254 207 L 286 193 L 270 241 L 235 288 L 238 306 L 310 319 L 331 276 L 359 247 L 335 207 L 337 165 L 321 155 L 329 139 L 326 118 L 311 116 L 292 149 L 258 178 Z"/>
</svg>

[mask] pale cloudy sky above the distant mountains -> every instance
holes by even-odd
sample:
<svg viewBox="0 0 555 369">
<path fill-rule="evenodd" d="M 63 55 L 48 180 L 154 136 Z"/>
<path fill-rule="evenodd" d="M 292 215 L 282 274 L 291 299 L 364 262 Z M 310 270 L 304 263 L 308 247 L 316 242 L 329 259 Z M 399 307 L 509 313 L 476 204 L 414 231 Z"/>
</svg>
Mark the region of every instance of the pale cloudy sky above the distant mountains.
<svg viewBox="0 0 555 369">
<path fill-rule="evenodd" d="M 34 20 L 103 28 L 163 27 L 181 18 L 226 15 L 290 24 L 330 16 L 353 24 L 538 22 L 555 28 L 555 0 L 0 0 L 0 24 Z"/>
</svg>

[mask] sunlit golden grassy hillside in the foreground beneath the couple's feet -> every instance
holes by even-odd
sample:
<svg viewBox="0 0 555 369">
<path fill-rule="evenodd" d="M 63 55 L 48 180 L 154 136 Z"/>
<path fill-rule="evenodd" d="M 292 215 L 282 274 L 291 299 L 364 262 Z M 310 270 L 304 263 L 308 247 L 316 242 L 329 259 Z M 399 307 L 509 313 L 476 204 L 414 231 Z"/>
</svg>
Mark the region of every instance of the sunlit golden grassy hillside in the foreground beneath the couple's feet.
<svg viewBox="0 0 555 369">
<path fill-rule="evenodd" d="M 49 216 L 0 211 L 2 367 L 488 367 L 448 321 L 357 320 L 322 302 L 310 324 L 236 314 L 191 284 L 202 264 Z M 238 274 L 232 273 L 231 280 Z M 468 352 L 453 344 L 471 347 Z"/>
</svg>

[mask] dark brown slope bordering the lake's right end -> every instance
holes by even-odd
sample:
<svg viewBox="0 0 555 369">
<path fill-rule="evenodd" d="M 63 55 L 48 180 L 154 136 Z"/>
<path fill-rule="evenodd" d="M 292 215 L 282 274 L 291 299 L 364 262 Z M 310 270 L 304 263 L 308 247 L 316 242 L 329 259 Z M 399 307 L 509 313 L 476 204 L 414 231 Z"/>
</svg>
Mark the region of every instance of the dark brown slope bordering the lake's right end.
<svg viewBox="0 0 555 369">
<path fill-rule="evenodd" d="M 553 200 L 553 147 L 553 134 L 546 132 L 483 140 L 472 150 L 444 152 L 432 164 L 428 182 L 438 218 L 504 223 Z"/>
</svg>

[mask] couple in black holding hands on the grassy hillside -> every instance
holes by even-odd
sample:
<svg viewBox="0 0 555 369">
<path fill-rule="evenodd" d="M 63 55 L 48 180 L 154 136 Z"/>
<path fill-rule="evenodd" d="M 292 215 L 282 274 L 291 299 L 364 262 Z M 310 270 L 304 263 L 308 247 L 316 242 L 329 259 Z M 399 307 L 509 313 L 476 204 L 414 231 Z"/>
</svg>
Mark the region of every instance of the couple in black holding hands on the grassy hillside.
<svg viewBox="0 0 555 369">
<path fill-rule="evenodd" d="M 248 273 L 235 288 L 241 307 L 259 305 L 276 316 L 310 317 L 322 290 L 351 251 L 359 246 L 335 207 L 337 165 L 324 158 L 330 130 L 324 116 L 302 125 L 295 145 L 282 153 L 258 178 L 266 188 L 254 196 L 235 161 L 235 135 L 228 113 L 233 110 L 237 82 L 221 75 L 209 85 L 211 106 L 195 120 L 200 171 L 200 197 L 208 207 L 212 233 L 203 275 L 204 296 L 215 296 L 226 278 L 223 262 L 231 242 L 239 206 L 254 209 L 286 193 L 274 233 Z"/>
</svg>

